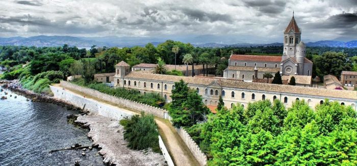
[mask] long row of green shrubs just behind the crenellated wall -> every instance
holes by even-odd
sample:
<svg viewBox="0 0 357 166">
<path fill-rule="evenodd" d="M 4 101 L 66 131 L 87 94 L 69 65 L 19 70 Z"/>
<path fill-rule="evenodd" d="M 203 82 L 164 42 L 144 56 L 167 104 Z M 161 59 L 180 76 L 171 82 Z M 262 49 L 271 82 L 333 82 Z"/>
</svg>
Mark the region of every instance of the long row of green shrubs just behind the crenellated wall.
<svg viewBox="0 0 357 166">
<path fill-rule="evenodd" d="M 86 86 L 88 88 L 95 89 L 100 92 L 110 94 L 116 97 L 137 101 L 155 107 L 160 107 L 165 103 L 165 99 L 163 99 L 159 93 L 153 93 L 153 92 L 140 93 L 139 90 L 135 90 L 135 89 L 129 90 L 122 87 L 111 88 L 103 83 L 96 83 L 96 82 L 86 84 L 83 79 L 74 79 L 72 83 L 81 86 Z"/>
</svg>

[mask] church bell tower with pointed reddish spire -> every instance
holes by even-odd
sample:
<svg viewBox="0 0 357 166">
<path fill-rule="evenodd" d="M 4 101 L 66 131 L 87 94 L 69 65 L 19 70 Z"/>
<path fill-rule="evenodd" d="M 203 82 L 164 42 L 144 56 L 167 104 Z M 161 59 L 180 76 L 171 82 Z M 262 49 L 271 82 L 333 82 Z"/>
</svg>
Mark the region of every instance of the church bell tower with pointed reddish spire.
<svg viewBox="0 0 357 166">
<path fill-rule="evenodd" d="M 283 54 L 286 54 L 290 57 L 295 57 L 296 55 L 296 46 L 301 40 L 301 29 L 297 26 L 297 23 L 293 17 L 290 20 L 288 27 L 284 31 L 284 51 Z"/>
</svg>

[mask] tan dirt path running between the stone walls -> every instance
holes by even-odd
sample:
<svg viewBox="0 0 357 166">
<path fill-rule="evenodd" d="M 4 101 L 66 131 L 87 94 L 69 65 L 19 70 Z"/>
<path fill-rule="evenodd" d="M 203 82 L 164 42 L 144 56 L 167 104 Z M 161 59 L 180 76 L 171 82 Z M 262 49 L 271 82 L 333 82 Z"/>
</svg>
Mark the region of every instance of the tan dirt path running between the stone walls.
<svg viewBox="0 0 357 166">
<path fill-rule="evenodd" d="M 54 84 L 53 86 L 63 88 L 60 84 Z M 77 91 L 75 89 L 68 89 L 66 88 L 66 91 L 75 94 L 76 96 L 82 97 L 85 95 L 86 99 L 89 99 L 94 102 L 99 102 L 111 107 L 116 107 L 120 110 L 127 111 L 127 112 L 132 112 L 139 114 L 138 111 L 121 107 L 118 104 L 111 103 L 108 101 L 105 101 L 103 99 L 99 99 L 93 96 L 88 96 L 88 94 L 84 94 L 80 91 Z M 180 135 L 177 134 L 173 126 L 170 124 L 169 121 L 164 120 L 163 118 L 155 117 L 155 122 L 158 124 L 159 128 L 159 133 L 164 141 L 164 144 L 167 148 L 167 150 L 170 153 L 170 156 L 174 162 L 175 165 L 178 166 L 187 166 L 187 165 L 199 165 L 197 160 L 194 158 L 190 150 L 187 148 L 185 145 L 184 141 L 181 139 Z"/>
</svg>

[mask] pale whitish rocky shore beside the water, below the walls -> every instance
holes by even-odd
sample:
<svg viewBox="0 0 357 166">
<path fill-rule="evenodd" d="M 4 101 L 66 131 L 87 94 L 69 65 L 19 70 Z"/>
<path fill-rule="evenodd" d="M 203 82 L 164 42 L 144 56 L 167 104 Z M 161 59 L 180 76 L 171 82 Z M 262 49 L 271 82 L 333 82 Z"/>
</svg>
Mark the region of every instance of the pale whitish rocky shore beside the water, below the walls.
<svg viewBox="0 0 357 166">
<path fill-rule="evenodd" d="M 103 155 L 104 162 L 115 165 L 167 165 L 163 155 L 148 151 L 136 151 L 126 147 L 128 144 L 124 140 L 123 127 L 118 120 L 94 115 L 79 116 L 78 123 L 89 126 L 88 136 L 93 140 L 93 146 L 101 148 L 100 155 Z"/>
</svg>

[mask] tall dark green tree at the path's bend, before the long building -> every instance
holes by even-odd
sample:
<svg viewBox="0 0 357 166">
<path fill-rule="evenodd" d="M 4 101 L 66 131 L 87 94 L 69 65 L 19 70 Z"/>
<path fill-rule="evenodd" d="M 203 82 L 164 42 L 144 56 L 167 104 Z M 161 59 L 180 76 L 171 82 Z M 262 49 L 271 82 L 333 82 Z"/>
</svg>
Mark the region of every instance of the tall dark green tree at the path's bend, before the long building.
<svg viewBox="0 0 357 166">
<path fill-rule="evenodd" d="M 175 82 L 175 88 L 171 90 L 172 102 L 168 108 L 171 122 L 174 126 L 192 126 L 202 121 L 209 109 L 202 102 L 202 97 L 196 90 L 189 89 L 183 80 Z"/>
</svg>

